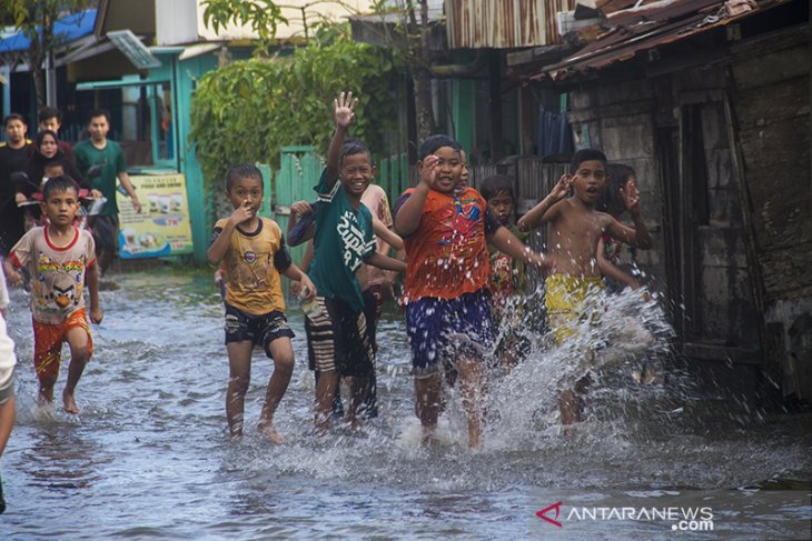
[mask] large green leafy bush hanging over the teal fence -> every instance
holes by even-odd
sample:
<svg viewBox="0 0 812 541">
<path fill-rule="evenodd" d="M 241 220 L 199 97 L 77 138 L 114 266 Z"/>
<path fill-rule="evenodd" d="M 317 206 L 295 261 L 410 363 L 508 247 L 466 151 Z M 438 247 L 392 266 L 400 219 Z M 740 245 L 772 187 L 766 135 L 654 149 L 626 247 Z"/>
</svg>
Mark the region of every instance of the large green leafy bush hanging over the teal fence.
<svg viewBox="0 0 812 541">
<path fill-rule="evenodd" d="M 311 144 L 326 152 L 333 137 L 333 100 L 359 98 L 351 136 L 374 156 L 396 123 L 393 84 L 400 68 L 390 51 L 355 43 L 348 29 L 323 29 L 291 56 L 252 58 L 204 76 L 191 104 L 190 139 L 211 193 L 221 191 L 230 164 L 278 167 L 283 147 Z"/>
</svg>

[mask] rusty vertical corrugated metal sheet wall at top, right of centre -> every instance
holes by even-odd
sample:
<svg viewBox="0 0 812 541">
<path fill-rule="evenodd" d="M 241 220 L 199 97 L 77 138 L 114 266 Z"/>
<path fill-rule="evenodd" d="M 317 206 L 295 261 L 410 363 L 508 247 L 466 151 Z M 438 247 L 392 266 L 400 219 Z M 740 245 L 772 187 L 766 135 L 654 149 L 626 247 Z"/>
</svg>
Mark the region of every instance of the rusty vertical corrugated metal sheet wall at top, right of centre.
<svg viewBox="0 0 812 541">
<path fill-rule="evenodd" d="M 509 49 L 561 43 L 556 13 L 574 9 L 575 0 L 446 0 L 448 46 Z"/>
</svg>

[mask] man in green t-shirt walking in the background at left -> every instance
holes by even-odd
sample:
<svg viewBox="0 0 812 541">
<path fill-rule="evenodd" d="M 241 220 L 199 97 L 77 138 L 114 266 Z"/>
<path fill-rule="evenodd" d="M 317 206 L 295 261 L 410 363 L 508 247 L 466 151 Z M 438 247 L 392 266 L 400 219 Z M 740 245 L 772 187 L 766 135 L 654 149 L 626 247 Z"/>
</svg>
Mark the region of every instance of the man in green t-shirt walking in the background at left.
<svg viewBox="0 0 812 541">
<path fill-rule="evenodd" d="M 98 258 L 99 271 L 105 272 L 112 263 L 118 248 L 118 203 L 116 202 L 116 179 L 127 190 L 136 212 L 141 212 L 141 203 L 138 201 L 136 190 L 127 174 L 127 163 L 121 147 L 107 139 L 110 131 L 110 113 L 103 109 L 97 109 L 90 113 L 88 122 L 90 139 L 77 143 L 73 148 L 76 162 L 79 170 L 88 174 L 93 166 L 101 166 L 101 174 L 90 178 L 95 189 L 101 191 L 107 198 L 107 203 L 93 221 L 93 239 L 96 240 L 96 256 Z"/>
</svg>

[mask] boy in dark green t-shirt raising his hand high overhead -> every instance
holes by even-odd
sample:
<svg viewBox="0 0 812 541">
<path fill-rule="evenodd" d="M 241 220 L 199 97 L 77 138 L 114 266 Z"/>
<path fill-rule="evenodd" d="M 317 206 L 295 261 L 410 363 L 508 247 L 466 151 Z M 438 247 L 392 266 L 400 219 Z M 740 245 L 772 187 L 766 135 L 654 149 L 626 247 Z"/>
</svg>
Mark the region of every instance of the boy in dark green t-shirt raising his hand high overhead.
<svg viewBox="0 0 812 541">
<path fill-rule="evenodd" d="M 375 370 L 357 278 L 362 262 L 385 270 L 406 268 L 403 261 L 375 251 L 373 217 L 360 201 L 375 174 L 372 156 L 359 141 L 344 144 L 357 102 L 351 92 L 341 92 L 334 101 L 336 131 L 327 152 L 327 167 L 315 187 L 319 200 L 326 204 L 315 209 L 309 273 L 318 297 L 317 310 L 306 314 L 305 330 L 308 353 L 319 372 L 316 383 L 316 431 L 319 433 L 329 427 L 339 375 L 349 378 L 351 395 L 346 419 L 351 429 L 357 428 L 358 409 Z"/>
</svg>

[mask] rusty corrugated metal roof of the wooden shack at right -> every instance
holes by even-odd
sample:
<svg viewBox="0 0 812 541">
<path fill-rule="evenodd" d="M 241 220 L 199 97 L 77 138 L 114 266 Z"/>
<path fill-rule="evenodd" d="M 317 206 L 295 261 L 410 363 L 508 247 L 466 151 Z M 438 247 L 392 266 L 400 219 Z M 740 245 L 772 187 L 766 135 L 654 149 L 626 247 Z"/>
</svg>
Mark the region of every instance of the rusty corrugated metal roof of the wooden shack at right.
<svg viewBox="0 0 812 541">
<path fill-rule="evenodd" d="M 729 17 L 720 11 L 724 0 L 665 0 L 613 13 L 612 30 L 533 79 L 564 80 L 634 58 L 638 52 L 673 43 L 710 29 L 730 24 L 759 11 L 792 0 L 762 0 L 755 9 Z"/>
</svg>

